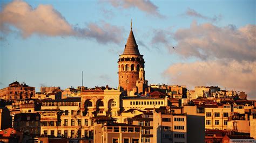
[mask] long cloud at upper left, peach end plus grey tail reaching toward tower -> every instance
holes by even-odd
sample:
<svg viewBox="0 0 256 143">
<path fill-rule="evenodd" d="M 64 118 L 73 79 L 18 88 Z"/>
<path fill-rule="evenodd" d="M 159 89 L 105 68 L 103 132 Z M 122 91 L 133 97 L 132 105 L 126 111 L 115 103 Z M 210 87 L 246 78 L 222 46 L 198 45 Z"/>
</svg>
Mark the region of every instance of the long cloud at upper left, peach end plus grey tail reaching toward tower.
<svg viewBox="0 0 256 143">
<path fill-rule="evenodd" d="M 13 1 L 4 6 L 0 12 L 0 31 L 11 32 L 11 26 L 21 31 L 27 38 L 32 34 L 46 36 L 73 36 L 77 38 L 95 39 L 100 44 L 119 44 L 123 37 L 120 36 L 122 28 L 102 22 L 89 23 L 84 28 L 69 24 L 60 12 L 51 5 L 38 5 L 33 9 L 23 1 Z"/>
</svg>

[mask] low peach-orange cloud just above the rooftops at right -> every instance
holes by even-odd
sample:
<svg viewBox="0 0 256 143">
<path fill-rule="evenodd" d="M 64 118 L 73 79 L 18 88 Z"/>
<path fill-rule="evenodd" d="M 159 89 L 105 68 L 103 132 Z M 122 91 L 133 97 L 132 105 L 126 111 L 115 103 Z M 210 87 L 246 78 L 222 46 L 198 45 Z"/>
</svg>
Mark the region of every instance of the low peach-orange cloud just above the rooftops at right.
<svg viewBox="0 0 256 143">
<path fill-rule="evenodd" d="M 176 63 L 166 69 L 164 77 L 172 84 L 187 85 L 193 89 L 201 85 L 219 85 L 222 88 L 256 92 L 256 61 L 213 60 Z"/>
</svg>

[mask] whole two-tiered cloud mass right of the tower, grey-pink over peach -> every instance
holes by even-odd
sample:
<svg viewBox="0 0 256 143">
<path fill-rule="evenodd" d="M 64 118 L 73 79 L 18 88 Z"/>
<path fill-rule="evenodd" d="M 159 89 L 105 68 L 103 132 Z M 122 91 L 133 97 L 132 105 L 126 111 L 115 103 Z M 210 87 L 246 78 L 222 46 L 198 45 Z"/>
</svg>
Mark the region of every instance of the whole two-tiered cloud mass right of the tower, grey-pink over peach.
<svg viewBox="0 0 256 143">
<path fill-rule="evenodd" d="M 151 42 L 170 45 L 171 40 L 177 42 L 174 52 L 199 61 L 171 65 L 163 73 L 169 82 L 190 88 L 220 85 L 251 95 L 256 92 L 256 25 L 237 28 L 193 22 L 174 33 L 156 33 Z"/>
</svg>

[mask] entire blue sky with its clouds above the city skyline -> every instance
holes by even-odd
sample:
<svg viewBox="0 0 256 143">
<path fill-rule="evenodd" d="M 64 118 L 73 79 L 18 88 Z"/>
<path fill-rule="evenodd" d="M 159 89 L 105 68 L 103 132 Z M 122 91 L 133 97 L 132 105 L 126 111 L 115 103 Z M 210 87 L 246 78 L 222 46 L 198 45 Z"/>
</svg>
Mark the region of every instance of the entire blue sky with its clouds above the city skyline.
<svg viewBox="0 0 256 143">
<path fill-rule="evenodd" d="M 218 85 L 256 99 L 255 1 L 0 1 L 0 89 L 118 87 L 130 32 L 149 84 Z M 174 47 L 174 49 L 172 48 Z"/>
</svg>

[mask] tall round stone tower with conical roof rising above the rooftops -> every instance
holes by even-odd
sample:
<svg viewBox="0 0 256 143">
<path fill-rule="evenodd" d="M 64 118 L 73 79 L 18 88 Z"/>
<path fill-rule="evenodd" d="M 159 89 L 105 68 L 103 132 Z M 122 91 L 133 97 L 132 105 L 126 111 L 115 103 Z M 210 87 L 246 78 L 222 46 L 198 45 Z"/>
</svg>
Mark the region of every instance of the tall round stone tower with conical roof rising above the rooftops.
<svg viewBox="0 0 256 143">
<path fill-rule="evenodd" d="M 119 56 L 118 60 L 119 86 L 127 92 L 132 90 L 134 91 L 134 89 L 137 88 L 137 81 L 140 80 L 137 84 L 143 90 L 143 88 L 145 88 L 144 84 L 147 84 L 144 75 L 144 63 L 143 55 L 139 53 L 138 45 L 132 32 L 131 23 L 131 31 L 124 48 L 124 52 Z M 140 75 L 141 78 L 139 79 L 140 70 L 142 70 L 140 72 L 142 75 Z M 138 91 L 138 89 L 136 89 L 136 91 Z M 139 91 L 142 92 L 141 90 Z"/>
</svg>

